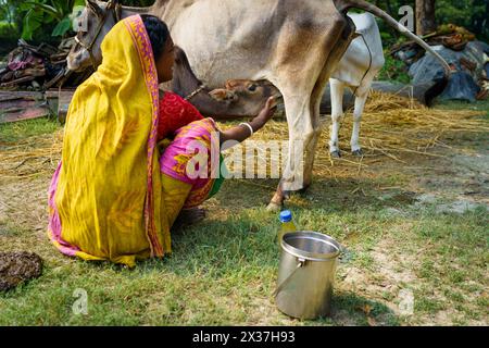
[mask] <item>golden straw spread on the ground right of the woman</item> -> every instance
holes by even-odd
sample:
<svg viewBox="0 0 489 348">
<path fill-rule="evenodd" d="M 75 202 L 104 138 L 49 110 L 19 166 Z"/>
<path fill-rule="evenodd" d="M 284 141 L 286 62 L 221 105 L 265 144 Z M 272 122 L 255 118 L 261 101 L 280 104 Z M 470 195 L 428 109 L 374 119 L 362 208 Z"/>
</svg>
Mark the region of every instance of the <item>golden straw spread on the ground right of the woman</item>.
<svg viewBox="0 0 489 348">
<path fill-rule="evenodd" d="M 487 122 L 480 120 L 480 111 L 429 109 L 414 99 L 372 91 L 365 105 L 360 130 L 360 144 L 364 156 L 350 154 L 352 110 L 341 121 L 341 159 L 329 156 L 330 117 L 323 116 L 322 134 L 314 162 L 314 175 L 340 177 L 359 175 L 364 169 L 386 160 L 403 164 L 413 154 L 441 158 L 436 148 L 451 148 L 444 139 L 457 134 L 487 133 Z M 224 126 L 226 127 L 226 126 Z M 271 121 L 253 139 L 287 139 L 285 121 Z M 244 145 L 246 147 L 246 145 Z M 269 161 L 269 154 L 258 153 Z M 279 159 L 274 159 L 278 161 Z M 233 169 L 231 169 L 233 170 Z M 269 169 L 266 169 L 269 174 Z"/>
</svg>

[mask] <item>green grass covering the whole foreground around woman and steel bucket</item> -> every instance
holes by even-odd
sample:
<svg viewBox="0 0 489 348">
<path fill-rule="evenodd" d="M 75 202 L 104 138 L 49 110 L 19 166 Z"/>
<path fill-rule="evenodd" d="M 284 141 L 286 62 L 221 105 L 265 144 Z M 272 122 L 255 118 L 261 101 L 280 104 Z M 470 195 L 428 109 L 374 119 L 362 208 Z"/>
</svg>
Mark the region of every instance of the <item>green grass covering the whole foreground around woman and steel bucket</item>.
<svg viewBox="0 0 489 348">
<path fill-rule="evenodd" d="M 0 138 L 55 129 L 40 119 L 0 125 Z M 45 260 L 41 277 L 0 294 L 0 325 L 487 324 L 487 209 L 438 213 L 440 201 L 416 206 L 409 191 L 379 190 L 412 179 L 402 167 L 375 178 L 322 177 L 287 202 L 300 228 L 326 233 L 346 248 L 331 318 L 299 321 L 277 310 L 279 223 L 264 209 L 277 182 L 228 181 L 205 204 L 204 222 L 173 235 L 171 257 L 135 270 L 63 257 L 43 231 L 0 219 L 2 250 L 30 250 Z M 351 194 L 356 187 L 364 192 Z M 76 289 L 87 291 L 87 315 L 73 312 Z M 397 310 L 403 289 L 414 295 L 412 315 Z"/>
</svg>

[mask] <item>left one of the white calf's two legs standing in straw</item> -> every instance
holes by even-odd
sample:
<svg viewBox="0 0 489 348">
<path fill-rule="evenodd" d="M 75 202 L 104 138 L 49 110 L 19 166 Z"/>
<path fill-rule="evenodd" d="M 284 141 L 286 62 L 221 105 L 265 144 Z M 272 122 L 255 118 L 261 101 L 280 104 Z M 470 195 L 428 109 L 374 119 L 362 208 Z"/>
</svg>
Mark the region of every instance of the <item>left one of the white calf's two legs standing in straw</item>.
<svg viewBox="0 0 489 348">
<path fill-rule="evenodd" d="M 336 78 L 329 79 L 331 89 L 331 127 L 329 139 L 329 153 L 333 158 L 340 158 L 341 152 L 339 148 L 339 128 L 343 116 L 343 91 L 344 84 Z"/>
</svg>

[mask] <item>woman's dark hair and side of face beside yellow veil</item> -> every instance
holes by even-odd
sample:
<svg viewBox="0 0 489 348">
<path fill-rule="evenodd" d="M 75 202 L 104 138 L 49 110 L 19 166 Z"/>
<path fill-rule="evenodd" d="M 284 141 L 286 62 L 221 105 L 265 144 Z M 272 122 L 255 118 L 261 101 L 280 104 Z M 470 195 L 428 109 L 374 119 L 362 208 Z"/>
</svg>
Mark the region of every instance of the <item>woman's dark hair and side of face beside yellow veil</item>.
<svg viewBox="0 0 489 348">
<path fill-rule="evenodd" d="M 168 27 L 159 17 L 141 15 L 153 48 L 154 63 L 156 64 L 158 80 L 164 83 L 173 78 L 173 64 L 175 63 L 174 44 Z"/>
</svg>

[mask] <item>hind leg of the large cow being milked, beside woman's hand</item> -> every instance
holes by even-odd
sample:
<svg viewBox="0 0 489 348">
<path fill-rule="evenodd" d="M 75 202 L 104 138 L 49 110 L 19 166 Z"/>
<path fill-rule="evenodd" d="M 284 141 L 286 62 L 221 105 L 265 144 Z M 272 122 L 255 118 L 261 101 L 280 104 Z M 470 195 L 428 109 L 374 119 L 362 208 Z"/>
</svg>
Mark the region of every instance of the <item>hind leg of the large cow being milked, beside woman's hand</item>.
<svg viewBox="0 0 489 348">
<path fill-rule="evenodd" d="M 267 78 L 284 96 L 289 126 L 289 157 L 268 210 L 279 209 L 288 192 L 303 190 L 312 181 L 312 166 L 321 130 L 318 121 L 323 88 L 331 70 L 347 50 L 351 41 L 352 28 L 354 28 L 352 21 L 340 13 L 331 11 L 330 20 L 330 25 L 325 27 L 323 33 L 323 39 L 314 39 L 314 42 L 321 41 L 322 45 L 313 42 L 308 45 L 304 38 L 311 36 L 298 35 L 304 49 L 302 51 L 297 49 L 292 52 L 285 51 L 281 60 L 289 62 L 289 57 L 294 55 L 294 62 L 299 62 L 299 65 L 288 66 L 289 72 L 283 75 L 284 78 Z M 290 40 L 290 36 L 287 37 Z M 315 51 L 312 49 L 313 47 L 315 47 Z M 303 52 L 305 55 L 301 59 L 297 57 L 298 52 Z M 316 60 L 311 61 L 311 57 L 315 57 Z M 321 57 L 324 57 L 324 60 L 317 59 Z M 311 62 L 311 64 L 304 65 L 306 62 Z M 287 70 L 281 69 L 281 72 Z M 309 75 L 301 76 L 301 79 L 297 80 L 293 78 L 297 76 L 297 72 L 309 72 Z"/>
</svg>

